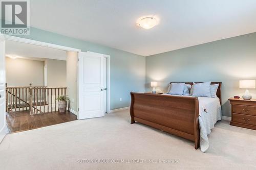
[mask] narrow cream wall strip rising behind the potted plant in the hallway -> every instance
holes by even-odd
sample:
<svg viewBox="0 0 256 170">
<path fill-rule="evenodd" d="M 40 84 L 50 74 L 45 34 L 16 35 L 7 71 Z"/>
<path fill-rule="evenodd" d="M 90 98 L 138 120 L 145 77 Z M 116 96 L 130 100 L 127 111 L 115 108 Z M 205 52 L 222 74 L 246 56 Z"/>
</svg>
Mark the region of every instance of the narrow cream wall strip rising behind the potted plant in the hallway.
<svg viewBox="0 0 256 170">
<path fill-rule="evenodd" d="M 77 53 L 67 52 L 67 87 L 69 108 L 77 112 Z"/>
</svg>

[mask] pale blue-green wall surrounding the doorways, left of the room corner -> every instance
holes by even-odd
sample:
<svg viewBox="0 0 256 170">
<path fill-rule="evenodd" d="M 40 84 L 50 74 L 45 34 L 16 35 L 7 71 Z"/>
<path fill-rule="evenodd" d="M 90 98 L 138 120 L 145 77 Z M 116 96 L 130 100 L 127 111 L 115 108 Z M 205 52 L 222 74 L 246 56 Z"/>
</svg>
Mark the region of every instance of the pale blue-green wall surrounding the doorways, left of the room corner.
<svg viewBox="0 0 256 170">
<path fill-rule="evenodd" d="M 130 106 L 130 91 L 145 91 L 145 57 L 143 56 L 35 28 L 30 29 L 29 36 L 19 37 L 78 48 L 84 52 L 110 55 L 111 110 Z M 122 98 L 121 102 L 120 98 Z"/>
</svg>

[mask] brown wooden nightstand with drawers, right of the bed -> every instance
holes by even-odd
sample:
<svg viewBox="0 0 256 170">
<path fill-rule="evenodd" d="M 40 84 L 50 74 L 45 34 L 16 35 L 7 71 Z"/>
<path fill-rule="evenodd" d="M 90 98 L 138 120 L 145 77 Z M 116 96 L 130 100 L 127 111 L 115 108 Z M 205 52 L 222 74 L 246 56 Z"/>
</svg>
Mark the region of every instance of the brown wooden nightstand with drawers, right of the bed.
<svg viewBox="0 0 256 170">
<path fill-rule="evenodd" d="M 230 125 L 256 130 L 256 100 L 228 100 L 231 104 Z"/>
</svg>

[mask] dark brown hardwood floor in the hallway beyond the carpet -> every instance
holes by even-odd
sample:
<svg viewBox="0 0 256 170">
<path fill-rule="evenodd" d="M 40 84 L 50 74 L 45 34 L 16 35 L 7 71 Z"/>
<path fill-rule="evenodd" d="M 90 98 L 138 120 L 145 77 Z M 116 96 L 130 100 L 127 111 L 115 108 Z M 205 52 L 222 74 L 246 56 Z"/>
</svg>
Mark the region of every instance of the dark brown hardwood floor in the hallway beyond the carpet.
<svg viewBox="0 0 256 170">
<path fill-rule="evenodd" d="M 70 122 L 76 119 L 77 116 L 70 111 L 66 111 L 66 113 L 49 112 L 36 115 L 30 115 L 27 110 L 10 112 L 6 113 L 7 133 L 41 128 Z"/>
</svg>

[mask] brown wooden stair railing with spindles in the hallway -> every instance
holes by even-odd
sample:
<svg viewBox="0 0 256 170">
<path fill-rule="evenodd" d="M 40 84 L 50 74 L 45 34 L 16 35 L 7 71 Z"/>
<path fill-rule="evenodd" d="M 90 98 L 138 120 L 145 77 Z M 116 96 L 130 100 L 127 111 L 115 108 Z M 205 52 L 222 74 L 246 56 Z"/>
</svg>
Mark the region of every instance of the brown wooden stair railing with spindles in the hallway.
<svg viewBox="0 0 256 170">
<path fill-rule="evenodd" d="M 67 95 L 67 87 L 20 86 L 8 87 L 6 84 L 6 111 L 28 110 L 30 114 L 40 114 L 58 110 L 56 98 Z"/>
</svg>

